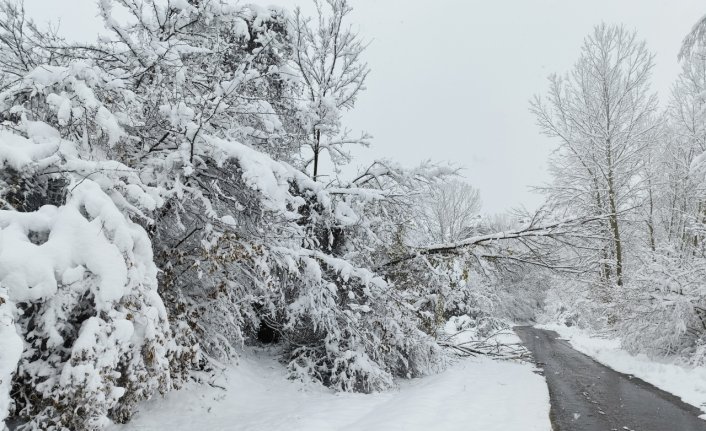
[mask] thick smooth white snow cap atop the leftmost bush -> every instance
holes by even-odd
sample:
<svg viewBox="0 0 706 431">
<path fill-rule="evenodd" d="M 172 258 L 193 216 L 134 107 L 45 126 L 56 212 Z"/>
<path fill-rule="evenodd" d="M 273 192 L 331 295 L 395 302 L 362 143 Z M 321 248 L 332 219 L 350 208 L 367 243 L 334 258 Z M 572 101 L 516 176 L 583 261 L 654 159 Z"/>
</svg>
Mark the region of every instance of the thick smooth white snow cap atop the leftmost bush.
<svg viewBox="0 0 706 431">
<path fill-rule="evenodd" d="M 100 277 L 94 292 L 97 302 L 108 304 L 126 293 L 128 269 L 121 253 L 133 249 L 134 229 L 90 180 L 75 186 L 68 204 L 46 206 L 36 213 L 0 213 L 0 282 L 13 300 L 52 296 L 57 290 L 55 274 L 77 264 Z M 86 220 L 81 208 L 96 219 Z M 49 231 L 48 240 L 33 244 L 28 227 L 40 226 L 36 231 Z"/>
</svg>

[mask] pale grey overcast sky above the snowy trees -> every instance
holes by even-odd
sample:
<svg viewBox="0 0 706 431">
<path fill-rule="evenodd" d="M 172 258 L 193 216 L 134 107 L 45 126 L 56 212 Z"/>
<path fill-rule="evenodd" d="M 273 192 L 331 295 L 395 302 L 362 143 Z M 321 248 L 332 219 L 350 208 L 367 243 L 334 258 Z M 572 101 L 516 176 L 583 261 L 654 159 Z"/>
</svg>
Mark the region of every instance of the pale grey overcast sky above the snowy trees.
<svg viewBox="0 0 706 431">
<path fill-rule="evenodd" d="M 294 7 L 306 0 L 257 0 Z M 372 43 L 367 91 L 346 117 L 374 136 L 356 165 L 388 158 L 412 166 L 450 161 L 480 188 L 484 211 L 536 207 L 529 191 L 548 180 L 555 143 L 528 111 L 550 73 L 568 71 L 583 38 L 601 21 L 637 30 L 656 55 L 653 87 L 662 101 L 679 72 L 682 38 L 703 0 L 351 0 L 353 24 Z M 39 23 L 84 39 L 100 28 L 95 0 L 25 0 Z M 92 39 L 92 37 L 90 37 Z"/>
</svg>

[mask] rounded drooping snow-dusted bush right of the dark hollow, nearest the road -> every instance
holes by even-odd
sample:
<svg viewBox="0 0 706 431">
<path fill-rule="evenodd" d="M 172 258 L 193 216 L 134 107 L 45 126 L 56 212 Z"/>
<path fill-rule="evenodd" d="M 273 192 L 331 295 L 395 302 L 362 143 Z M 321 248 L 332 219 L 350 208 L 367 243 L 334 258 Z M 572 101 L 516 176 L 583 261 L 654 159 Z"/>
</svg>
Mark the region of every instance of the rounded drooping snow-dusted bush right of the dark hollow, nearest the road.
<svg viewBox="0 0 706 431">
<path fill-rule="evenodd" d="M 316 253 L 299 262 L 309 272 L 299 282 L 308 286 L 289 305 L 293 318 L 282 331 L 293 342 L 295 375 L 370 392 L 391 386 L 392 377 L 427 374 L 439 365 L 440 349 L 420 329 L 405 292 L 342 259 Z"/>
</svg>

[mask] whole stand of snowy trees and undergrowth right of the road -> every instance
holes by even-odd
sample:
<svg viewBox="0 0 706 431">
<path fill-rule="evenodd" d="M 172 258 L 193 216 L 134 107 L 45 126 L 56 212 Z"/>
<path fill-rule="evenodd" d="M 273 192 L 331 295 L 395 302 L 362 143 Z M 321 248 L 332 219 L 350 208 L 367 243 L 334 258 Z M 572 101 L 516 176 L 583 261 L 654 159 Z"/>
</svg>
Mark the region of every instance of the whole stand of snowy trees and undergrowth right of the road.
<svg viewBox="0 0 706 431">
<path fill-rule="evenodd" d="M 550 204 L 609 217 L 589 241 L 563 252 L 587 256 L 594 268 L 615 262 L 602 275 L 617 283 L 616 221 L 621 254 L 630 258 L 620 265 L 619 290 L 587 288 L 594 283 L 583 276 L 555 277 L 550 313 L 616 331 L 632 352 L 679 355 L 695 365 L 706 357 L 703 29 L 702 20 L 684 42 L 682 73 L 663 113 L 649 93 L 644 44 L 605 26 L 587 40 L 569 83 L 553 78 L 549 102 L 533 104 L 543 131 L 561 141 Z"/>
</svg>

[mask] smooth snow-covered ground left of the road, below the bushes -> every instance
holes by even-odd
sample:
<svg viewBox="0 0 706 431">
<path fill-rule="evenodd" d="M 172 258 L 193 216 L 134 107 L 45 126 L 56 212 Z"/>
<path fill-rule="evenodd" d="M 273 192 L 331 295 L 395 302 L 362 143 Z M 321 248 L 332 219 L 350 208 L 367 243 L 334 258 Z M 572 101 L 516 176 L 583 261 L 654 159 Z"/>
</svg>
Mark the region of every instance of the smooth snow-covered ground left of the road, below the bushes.
<svg viewBox="0 0 706 431">
<path fill-rule="evenodd" d="M 371 395 L 333 393 L 285 375 L 269 353 L 247 352 L 213 386 L 192 384 L 150 401 L 110 431 L 551 430 L 544 379 L 524 363 L 463 359 Z"/>
</svg>

